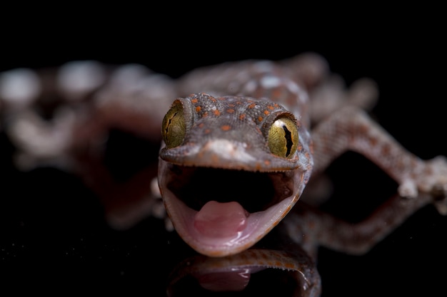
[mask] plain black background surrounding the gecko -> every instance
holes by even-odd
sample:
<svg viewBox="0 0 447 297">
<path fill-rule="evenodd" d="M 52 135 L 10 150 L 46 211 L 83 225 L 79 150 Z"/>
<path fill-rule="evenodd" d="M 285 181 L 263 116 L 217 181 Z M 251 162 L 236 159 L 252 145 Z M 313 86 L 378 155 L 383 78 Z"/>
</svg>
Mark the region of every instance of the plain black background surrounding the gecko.
<svg viewBox="0 0 447 297">
<path fill-rule="evenodd" d="M 348 16 L 325 10 L 330 18 L 320 10 L 219 10 L 5 10 L 10 19 L 1 29 L 0 71 L 94 59 L 142 63 L 177 77 L 224 61 L 316 51 L 347 83 L 376 80 L 381 95 L 373 116 L 404 147 L 423 159 L 447 155 L 446 24 L 436 8 L 381 9 L 368 18 L 366 9 Z M 11 279 L 21 283 L 14 286 L 18 291 L 32 286 L 61 295 L 78 288 L 163 296 L 167 273 L 188 249 L 175 234 L 164 233 L 155 219 L 127 231 L 109 228 L 99 199 L 79 179 L 52 169 L 17 171 L 14 147 L 0 136 L 0 267 L 10 276 L 2 285 Z M 355 154 L 343 155 L 328 172 L 336 184 L 330 210 L 346 219 L 364 217 L 396 188 Z M 446 217 L 426 207 L 365 256 L 321 249 L 322 296 L 445 295 L 446 228 Z"/>
</svg>

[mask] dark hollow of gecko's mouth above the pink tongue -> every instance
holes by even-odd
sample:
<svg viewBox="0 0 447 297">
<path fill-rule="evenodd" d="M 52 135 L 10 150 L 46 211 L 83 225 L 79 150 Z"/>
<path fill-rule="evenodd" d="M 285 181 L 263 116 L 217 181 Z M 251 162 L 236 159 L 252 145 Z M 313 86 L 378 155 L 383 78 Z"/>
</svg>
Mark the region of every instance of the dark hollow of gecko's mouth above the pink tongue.
<svg viewBox="0 0 447 297">
<path fill-rule="evenodd" d="M 291 195 L 283 172 L 247 172 L 174 165 L 178 173 L 167 188 L 186 206 L 199 212 L 210 201 L 237 202 L 248 213 L 262 212 Z M 181 177 L 181 178 L 180 178 Z"/>
</svg>

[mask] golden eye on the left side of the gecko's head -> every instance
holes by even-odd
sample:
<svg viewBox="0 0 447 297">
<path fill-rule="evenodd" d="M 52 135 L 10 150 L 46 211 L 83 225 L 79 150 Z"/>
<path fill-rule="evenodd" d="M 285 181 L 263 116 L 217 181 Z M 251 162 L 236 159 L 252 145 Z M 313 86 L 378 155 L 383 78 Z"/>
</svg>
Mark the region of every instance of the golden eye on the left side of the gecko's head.
<svg viewBox="0 0 447 297">
<path fill-rule="evenodd" d="M 161 123 L 161 135 L 167 148 L 177 147 L 184 141 L 186 123 L 183 105 L 176 101 Z"/>
</svg>

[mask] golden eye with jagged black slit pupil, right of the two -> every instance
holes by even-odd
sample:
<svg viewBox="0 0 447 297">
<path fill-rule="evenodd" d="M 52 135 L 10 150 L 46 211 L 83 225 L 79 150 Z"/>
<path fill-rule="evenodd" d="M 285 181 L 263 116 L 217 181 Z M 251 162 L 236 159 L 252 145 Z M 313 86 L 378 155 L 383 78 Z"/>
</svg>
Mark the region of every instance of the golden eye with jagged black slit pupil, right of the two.
<svg viewBox="0 0 447 297">
<path fill-rule="evenodd" d="M 268 148 L 279 157 L 292 157 L 298 147 L 298 127 L 290 118 L 278 118 L 268 130 Z"/>
</svg>

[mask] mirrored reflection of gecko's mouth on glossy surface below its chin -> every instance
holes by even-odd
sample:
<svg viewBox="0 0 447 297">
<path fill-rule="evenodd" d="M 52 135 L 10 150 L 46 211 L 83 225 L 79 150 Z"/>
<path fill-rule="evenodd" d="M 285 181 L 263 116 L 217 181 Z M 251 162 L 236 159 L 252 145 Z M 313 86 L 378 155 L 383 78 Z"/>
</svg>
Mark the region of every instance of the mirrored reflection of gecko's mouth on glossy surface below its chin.
<svg viewBox="0 0 447 297">
<path fill-rule="evenodd" d="M 194 256 L 171 273 L 168 295 L 244 291 L 249 296 L 314 296 L 320 278 L 308 261 L 308 257 L 266 249 L 250 249 L 224 258 Z"/>
</svg>

